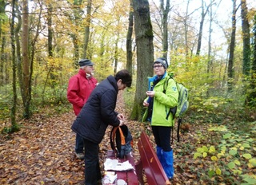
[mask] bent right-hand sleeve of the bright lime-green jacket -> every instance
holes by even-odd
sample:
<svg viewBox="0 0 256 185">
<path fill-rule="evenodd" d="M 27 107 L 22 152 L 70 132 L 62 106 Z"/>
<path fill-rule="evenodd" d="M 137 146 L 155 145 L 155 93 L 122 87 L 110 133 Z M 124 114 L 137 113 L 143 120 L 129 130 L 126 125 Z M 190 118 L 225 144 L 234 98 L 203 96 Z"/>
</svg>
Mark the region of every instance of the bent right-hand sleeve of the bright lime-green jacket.
<svg viewBox="0 0 256 185">
<path fill-rule="evenodd" d="M 165 104 L 167 107 L 174 108 L 178 105 L 178 89 L 176 82 L 173 79 L 169 79 L 168 86 L 166 87 L 166 93 L 157 91 L 155 92 L 154 96 L 155 100 L 158 100 L 161 104 Z"/>
</svg>

